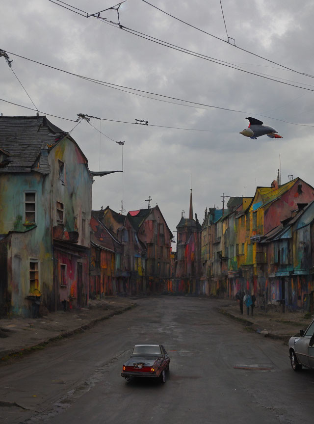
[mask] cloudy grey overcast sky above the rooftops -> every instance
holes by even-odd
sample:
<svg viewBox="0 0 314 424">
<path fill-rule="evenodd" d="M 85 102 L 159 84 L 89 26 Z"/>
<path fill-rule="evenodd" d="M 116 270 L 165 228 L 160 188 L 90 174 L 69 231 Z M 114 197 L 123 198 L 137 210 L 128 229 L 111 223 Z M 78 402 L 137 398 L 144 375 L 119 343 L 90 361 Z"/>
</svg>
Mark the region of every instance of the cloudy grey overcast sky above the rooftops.
<svg viewBox="0 0 314 424">
<path fill-rule="evenodd" d="M 89 14 L 115 1 L 65 0 Z M 219 0 L 151 2 L 183 21 L 227 38 Z M 313 1 L 222 0 L 222 5 L 228 35 L 235 38 L 237 46 L 301 73 L 314 73 Z M 119 11 L 124 27 L 314 90 L 313 78 L 278 69 L 278 65 L 188 27 L 141 0 L 128 0 Z M 117 22 L 115 11 L 101 16 Z M 273 119 L 314 125 L 314 92 L 177 52 L 96 18 L 86 19 L 48 0 L 2 0 L 0 27 L 0 49 L 7 52 L 113 84 L 245 111 L 178 106 L 138 97 L 9 54 L 12 69 L 38 110 L 47 116 L 76 120 L 78 113 L 85 113 L 120 121 L 135 122 L 137 118 L 154 125 L 210 130 L 106 121 L 101 121 L 100 127 L 100 121 L 92 119 L 90 123 L 110 138 L 125 141 L 123 204 L 127 212 L 146 208 L 145 199 L 151 196 L 152 206 L 158 204 L 170 229 L 175 230 L 182 210 L 188 217 L 192 174 L 193 209 L 202 223 L 206 207 L 221 207 L 222 193 L 244 196 L 245 190 L 246 196 L 253 196 L 255 181 L 257 185 L 270 185 L 277 177 L 279 154 L 282 184 L 292 174 L 314 185 L 314 128 Z M 3 57 L 0 75 L 2 99 L 34 107 Z M 2 101 L 0 112 L 5 116 L 35 115 Z M 251 140 L 239 134 L 248 125 L 247 116 L 261 119 L 283 138 L 262 136 Z M 48 119 L 64 131 L 75 126 L 71 121 Z M 99 132 L 86 121 L 71 135 L 85 153 L 91 170 L 98 171 L 99 163 L 101 170 L 122 169 L 122 147 L 103 135 L 100 139 Z M 95 180 L 93 209 L 109 205 L 118 211 L 122 174 Z"/>
</svg>

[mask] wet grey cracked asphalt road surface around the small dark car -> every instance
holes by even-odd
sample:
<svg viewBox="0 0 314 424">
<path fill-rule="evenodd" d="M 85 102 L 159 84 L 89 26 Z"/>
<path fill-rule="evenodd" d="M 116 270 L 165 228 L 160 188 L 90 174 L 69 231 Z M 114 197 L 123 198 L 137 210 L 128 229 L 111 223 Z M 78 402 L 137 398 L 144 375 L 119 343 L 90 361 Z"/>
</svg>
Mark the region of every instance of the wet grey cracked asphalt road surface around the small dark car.
<svg viewBox="0 0 314 424">
<path fill-rule="evenodd" d="M 0 367 L 0 423 L 313 423 L 314 371 L 247 332 L 214 299 L 156 296 Z M 127 383 L 135 343 L 163 344 L 166 384 Z"/>
</svg>

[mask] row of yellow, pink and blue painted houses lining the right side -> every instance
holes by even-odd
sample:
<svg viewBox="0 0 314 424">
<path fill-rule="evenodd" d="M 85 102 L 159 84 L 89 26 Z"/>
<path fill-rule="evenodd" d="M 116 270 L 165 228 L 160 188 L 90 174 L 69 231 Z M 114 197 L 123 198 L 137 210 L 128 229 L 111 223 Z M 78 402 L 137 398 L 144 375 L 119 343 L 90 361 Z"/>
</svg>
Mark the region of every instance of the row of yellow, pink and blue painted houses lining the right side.
<svg viewBox="0 0 314 424">
<path fill-rule="evenodd" d="M 291 219 L 310 216 L 313 207 L 307 205 L 313 200 L 314 188 L 303 180 L 284 185 L 275 180 L 257 187 L 254 198 L 231 197 L 218 220 L 217 210 L 209 210 L 202 226 L 208 294 L 233 297 L 242 289 L 254 293 L 262 308 L 310 308 L 312 227 L 297 227 Z"/>
</svg>

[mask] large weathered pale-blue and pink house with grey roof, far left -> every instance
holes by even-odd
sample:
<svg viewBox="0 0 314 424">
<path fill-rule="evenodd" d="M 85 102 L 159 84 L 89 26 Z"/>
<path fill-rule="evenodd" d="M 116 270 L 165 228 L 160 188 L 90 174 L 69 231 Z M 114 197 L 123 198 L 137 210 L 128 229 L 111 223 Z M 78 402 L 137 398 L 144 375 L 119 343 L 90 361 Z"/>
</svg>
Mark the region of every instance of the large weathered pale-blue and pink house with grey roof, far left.
<svg viewBox="0 0 314 424">
<path fill-rule="evenodd" d="M 92 176 L 45 116 L 0 117 L 2 314 L 88 301 Z M 63 302 L 63 303 L 62 303 Z"/>
</svg>

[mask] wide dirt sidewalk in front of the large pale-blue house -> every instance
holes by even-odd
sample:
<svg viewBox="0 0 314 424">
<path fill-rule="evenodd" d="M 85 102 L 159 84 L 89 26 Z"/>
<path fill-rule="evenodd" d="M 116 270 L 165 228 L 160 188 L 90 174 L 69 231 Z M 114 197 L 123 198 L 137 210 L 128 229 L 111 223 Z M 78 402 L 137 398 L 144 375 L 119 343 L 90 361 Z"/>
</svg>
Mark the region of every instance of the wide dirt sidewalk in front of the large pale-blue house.
<svg viewBox="0 0 314 424">
<path fill-rule="evenodd" d="M 84 331 L 99 321 L 122 314 L 135 306 L 132 298 L 107 297 L 90 300 L 88 308 L 73 309 L 71 312 L 57 311 L 42 318 L 2 318 L 0 361 L 43 349 L 53 340 Z"/>
</svg>

